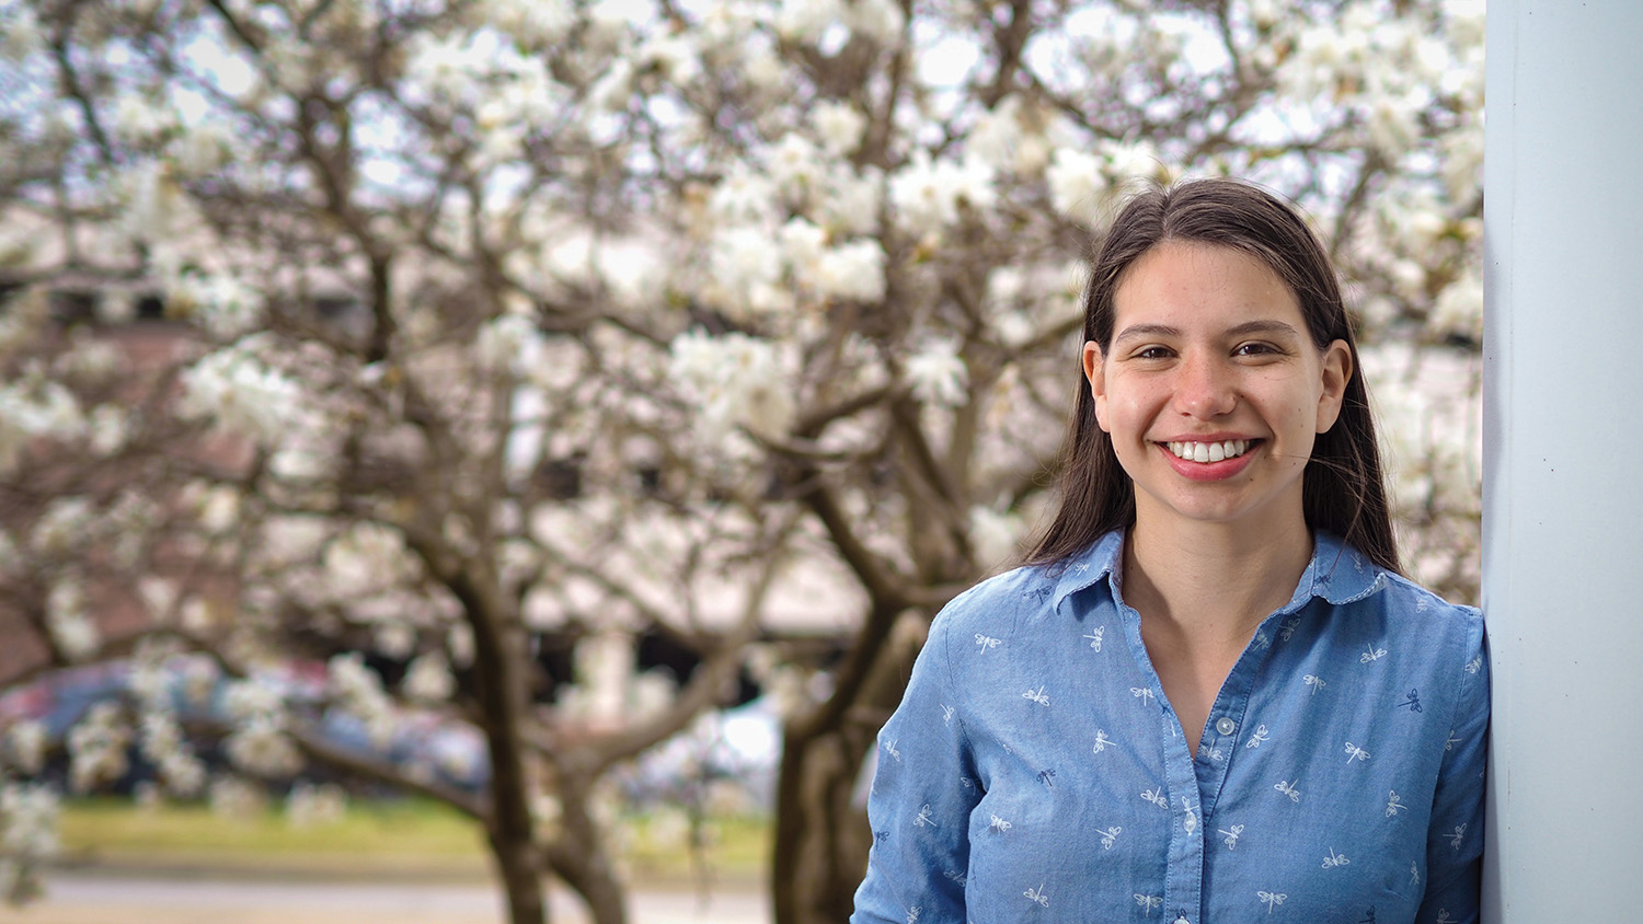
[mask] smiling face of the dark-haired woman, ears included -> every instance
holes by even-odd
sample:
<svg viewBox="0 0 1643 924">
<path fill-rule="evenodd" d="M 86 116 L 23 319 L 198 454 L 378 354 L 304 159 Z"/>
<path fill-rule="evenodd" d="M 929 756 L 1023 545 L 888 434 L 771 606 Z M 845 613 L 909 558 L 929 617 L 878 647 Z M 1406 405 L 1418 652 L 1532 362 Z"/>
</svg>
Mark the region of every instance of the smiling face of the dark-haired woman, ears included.
<svg viewBox="0 0 1643 924">
<path fill-rule="evenodd" d="M 1112 343 L 1084 345 L 1096 420 L 1135 483 L 1137 525 L 1305 525 L 1301 473 L 1351 377 L 1300 304 L 1242 251 L 1170 241 L 1114 294 Z"/>
</svg>

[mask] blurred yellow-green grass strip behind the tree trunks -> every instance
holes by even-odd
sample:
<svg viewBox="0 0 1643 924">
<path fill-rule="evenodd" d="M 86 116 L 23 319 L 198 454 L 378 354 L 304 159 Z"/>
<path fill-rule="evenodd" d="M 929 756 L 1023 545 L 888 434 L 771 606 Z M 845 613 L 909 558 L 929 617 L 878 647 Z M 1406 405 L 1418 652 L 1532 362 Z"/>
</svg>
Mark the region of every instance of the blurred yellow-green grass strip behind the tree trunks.
<svg viewBox="0 0 1643 924">
<path fill-rule="evenodd" d="M 708 847 L 693 855 L 677 817 L 629 816 L 619 865 L 629 881 L 762 881 L 769 824 L 759 817 L 708 822 Z M 447 878 L 490 875 L 483 832 L 445 806 L 416 799 L 350 803 L 334 822 L 296 827 L 278 811 L 223 817 L 205 806 L 138 806 L 74 799 L 62 806 L 62 858 L 123 870 L 301 878 Z"/>
</svg>

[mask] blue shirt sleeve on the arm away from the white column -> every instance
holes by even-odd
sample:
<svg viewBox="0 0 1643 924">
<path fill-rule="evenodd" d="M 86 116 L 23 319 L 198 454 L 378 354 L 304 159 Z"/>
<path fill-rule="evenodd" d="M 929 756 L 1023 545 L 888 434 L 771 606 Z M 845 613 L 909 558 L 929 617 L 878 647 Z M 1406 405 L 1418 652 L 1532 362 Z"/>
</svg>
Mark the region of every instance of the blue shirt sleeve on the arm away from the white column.
<svg viewBox="0 0 1643 924">
<path fill-rule="evenodd" d="M 941 614 L 914 663 L 902 704 L 879 730 L 868 796 L 872 850 L 851 924 L 964 924 L 969 814 L 981 781 L 955 696 Z"/>
</svg>

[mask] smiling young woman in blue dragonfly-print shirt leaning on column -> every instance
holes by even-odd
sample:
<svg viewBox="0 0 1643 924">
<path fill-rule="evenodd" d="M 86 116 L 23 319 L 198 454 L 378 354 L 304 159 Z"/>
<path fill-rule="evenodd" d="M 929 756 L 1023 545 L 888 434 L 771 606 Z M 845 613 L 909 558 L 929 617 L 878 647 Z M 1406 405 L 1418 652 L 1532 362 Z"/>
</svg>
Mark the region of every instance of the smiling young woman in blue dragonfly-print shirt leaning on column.
<svg viewBox="0 0 1643 924">
<path fill-rule="evenodd" d="M 1142 194 L 1084 341 L 1060 512 L 879 735 L 851 921 L 1475 921 L 1484 625 L 1398 573 L 1318 240 Z"/>
</svg>

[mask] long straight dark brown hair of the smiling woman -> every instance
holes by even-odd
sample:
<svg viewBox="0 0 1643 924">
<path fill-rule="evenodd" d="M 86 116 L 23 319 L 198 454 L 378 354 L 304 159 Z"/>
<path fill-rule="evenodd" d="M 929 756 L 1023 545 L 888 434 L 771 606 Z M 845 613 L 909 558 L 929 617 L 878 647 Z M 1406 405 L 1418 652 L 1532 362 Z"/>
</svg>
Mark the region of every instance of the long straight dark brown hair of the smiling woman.
<svg viewBox="0 0 1643 924">
<path fill-rule="evenodd" d="M 1309 528 L 1328 530 L 1388 571 L 1400 571 L 1385 478 L 1341 286 L 1306 222 L 1275 195 L 1232 179 L 1199 179 L 1135 195 L 1112 222 L 1089 268 L 1084 340 L 1112 346 L 1114 294 L 1129 268 L 1165 241 L 1226 246 L 1260 259 L 1295 294 L 1318 350 L 1346 341 L 1352 356 L 1341 415 L 1319 433 L 1303 474 Z M 1058 476 L 1060 507 L 1027 556 L 1029 565 L 1063 563 L 1104 533 L 1135 522 L 1135 486 L 1119 466 L 1112 438 L 1096 423 L 1089 382 L 1078 397 Z"/>
</svg>

